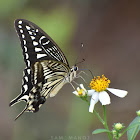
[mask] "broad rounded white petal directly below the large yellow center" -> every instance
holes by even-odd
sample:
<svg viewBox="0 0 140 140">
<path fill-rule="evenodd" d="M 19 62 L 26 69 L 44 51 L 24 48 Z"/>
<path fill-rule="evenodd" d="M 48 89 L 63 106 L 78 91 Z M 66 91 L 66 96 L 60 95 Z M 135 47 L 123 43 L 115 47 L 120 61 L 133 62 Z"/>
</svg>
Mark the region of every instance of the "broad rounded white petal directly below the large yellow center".
<svg viewBox="0 0 140 140">
<path fill-rule="evenodd" d="M 102 91 L 99 93 L 99 101 L 102 105 L 110 104 L 110 97 L 106 91 Z"/>
</svg>

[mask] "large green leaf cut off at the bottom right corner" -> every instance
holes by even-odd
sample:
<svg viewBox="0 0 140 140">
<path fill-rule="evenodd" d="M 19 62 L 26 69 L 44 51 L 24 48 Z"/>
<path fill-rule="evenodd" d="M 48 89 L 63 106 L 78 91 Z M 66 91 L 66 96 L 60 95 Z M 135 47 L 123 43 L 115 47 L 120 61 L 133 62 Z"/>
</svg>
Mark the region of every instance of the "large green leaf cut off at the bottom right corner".
<svg viewBox="0 0 140 140">
<path fill-rule="evenodd" d="M 131 128 L 132 127 L 132 128 Z M 130 129 L 131 128 L 131 129 Z M 140 117 L 136 117 L 128 126 L 127 138 L 128 140 L 134 140 L 140 131 Z"/>
</svg>

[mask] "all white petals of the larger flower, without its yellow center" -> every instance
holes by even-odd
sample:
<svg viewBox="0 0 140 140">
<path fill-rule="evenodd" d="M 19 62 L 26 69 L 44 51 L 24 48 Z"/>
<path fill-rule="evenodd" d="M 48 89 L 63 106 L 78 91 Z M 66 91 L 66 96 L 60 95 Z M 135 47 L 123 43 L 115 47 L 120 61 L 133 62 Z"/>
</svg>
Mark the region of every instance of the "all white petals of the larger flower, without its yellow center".
<svg viewBox="0 0 140 140">
<path fill-rule="evenodd" d="M 106 88 L 106 90 L 120 98 L 125 97 L 128 93 L 125 90 L 114 89 L 114 88 Z M 87 91 L 87 96 L 91 96 L 89 112 L 93 113 L 94 106 L 98 101 L 100 101 L 102 105 L 108 105 L 111 103 L 107 91 L 97 92 L 94 89 Z"/>
</svg>

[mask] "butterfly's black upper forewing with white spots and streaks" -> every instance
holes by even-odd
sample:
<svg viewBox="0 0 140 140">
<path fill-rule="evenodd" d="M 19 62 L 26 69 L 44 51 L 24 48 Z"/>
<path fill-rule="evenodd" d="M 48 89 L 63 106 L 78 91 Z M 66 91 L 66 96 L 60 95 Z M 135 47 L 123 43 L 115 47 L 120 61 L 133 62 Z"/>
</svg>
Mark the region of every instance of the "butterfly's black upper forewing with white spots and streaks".
<svg viewBox="0 0 140 140">
<path fill-rule="evenodd" d="M 27 66 L 39 60 L 56 60 L 68 65 L 67 59 L 58 45 L 37 25 L 17 19 L 15 28 L 21 41 Z"/>
</svg>

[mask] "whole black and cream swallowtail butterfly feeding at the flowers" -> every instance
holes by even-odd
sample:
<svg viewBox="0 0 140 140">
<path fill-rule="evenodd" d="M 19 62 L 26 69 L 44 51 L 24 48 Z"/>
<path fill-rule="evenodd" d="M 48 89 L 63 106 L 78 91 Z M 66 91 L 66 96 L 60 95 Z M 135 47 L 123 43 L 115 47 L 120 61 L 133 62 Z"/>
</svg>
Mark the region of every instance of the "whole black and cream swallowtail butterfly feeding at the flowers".
<svg viewBox="0 0 140 140">
<path fill-rule="evenodd" d="M 41 28 L 25 20 L 15 20 L 26 68 L 23 71 L 21 93 L 9 106 L 25 101 L 24 112 L 37 112 L 48 97 L 54 97 L 76 78 L 77 66 L 69 63 L 58 45 Z M 15 119 L 15 120 L 16 120 Z"/>
</svg>

